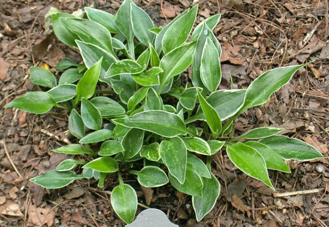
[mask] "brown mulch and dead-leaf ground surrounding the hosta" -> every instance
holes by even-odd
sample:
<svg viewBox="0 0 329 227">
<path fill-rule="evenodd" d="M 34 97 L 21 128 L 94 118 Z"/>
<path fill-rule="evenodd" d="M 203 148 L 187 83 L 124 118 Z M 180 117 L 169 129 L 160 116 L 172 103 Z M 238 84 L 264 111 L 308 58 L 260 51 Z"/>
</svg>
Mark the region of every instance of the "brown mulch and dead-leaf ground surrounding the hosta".
<svg viewBox="0 0 329 227">
<path fill-rule="evenodd" d="M 68 135 L 68 113 L 53 109 L 44 115 L 3 109 L 10 100 L 41 88 L 29 80 L 29 67 L 54 66 L 64 57 L 81 61 L 79 54 L 47 31 L 44 15 L 49 8 L 81 13 L 94 6 L 115 14 L 122 1 L 8 0 L 0 4 L 0 225 L 1 226 L 123 226 L 111 208 L 109 195 L 116 178 L 105 188 L 97 182 L 76 181 L 68 187 L 45 190 L 29 178 L 54 169 L 66 158 L 50 150 L 75 140 Z M 157 26 L 191 7 L 188 0 L 134 1 Z M 246 111 L 236 120 L 235 132 L 271 126 L 284 135 L 302 139 L 328 156 L 329 42 L 328 2 L 321 0 L 223 0 L 199 3 L 197 23 L 221 13 L 214 29 L 223 48 L 223 82 L 229 88 L 247 88 L 266 70 L 314 60 L 296 73 L 269 102 Z M 212 156 L 213 172 L 221 182 L 214 209 L 196 222 L 190 196 L 171 186 L 142 189 L 141 205 L 165 212 L 179 226 L 327 226 L 329 225 L 328 159 L 289 161 L 291 174 L 270 171 L 276 191 L 234 168 L 221 151 Z M 293 194 L 286 194 L 292 192 Z"/>
</svg>

